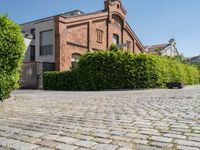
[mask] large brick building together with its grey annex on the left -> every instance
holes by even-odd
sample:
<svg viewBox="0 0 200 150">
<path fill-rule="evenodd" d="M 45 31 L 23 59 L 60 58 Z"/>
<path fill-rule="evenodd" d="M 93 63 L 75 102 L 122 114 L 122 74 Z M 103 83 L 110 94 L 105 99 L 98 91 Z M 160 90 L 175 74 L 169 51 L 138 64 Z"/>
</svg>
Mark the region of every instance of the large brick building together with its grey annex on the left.
<svg viewBox="0 0 200 150">
<path fill-rule="evenodd" d="M 145 48 L 126 21 L 121 0 L 106 0 L 104 9 L 93 13 L 75 10 L 21 25 L 33 35 L 25 62 L 55 63 L 58 71 L 70 69 L 87 51 L 107 50 L 114 43 L 132 53 Z"/>
</svg>

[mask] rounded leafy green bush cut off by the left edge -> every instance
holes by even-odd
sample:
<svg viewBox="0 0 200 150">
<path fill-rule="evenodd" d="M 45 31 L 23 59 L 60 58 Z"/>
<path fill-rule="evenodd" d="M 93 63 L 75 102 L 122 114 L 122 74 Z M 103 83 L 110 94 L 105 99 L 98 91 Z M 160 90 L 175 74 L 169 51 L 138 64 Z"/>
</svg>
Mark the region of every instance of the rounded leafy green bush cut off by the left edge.
<svg viewBox="0 0 200 150">
<path fill-rule="evenodd" d="M 25 52 L 19 25 L 0 15 L 0 99 L 18 87 L 19 71 Z"/>
</svg>

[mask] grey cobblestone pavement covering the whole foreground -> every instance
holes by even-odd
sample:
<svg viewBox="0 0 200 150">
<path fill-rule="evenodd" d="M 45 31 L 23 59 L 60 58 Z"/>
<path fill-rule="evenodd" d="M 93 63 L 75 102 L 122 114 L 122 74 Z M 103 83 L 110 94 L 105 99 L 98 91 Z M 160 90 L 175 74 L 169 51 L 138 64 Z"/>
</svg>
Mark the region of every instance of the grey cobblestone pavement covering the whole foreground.
<svg viewBox="0 0 200 150">
<path fill-rule="evenodd" d="M 0 150 L 200 149 L 200 86 L 13 95 L 0 103 Z"/>
</svg>

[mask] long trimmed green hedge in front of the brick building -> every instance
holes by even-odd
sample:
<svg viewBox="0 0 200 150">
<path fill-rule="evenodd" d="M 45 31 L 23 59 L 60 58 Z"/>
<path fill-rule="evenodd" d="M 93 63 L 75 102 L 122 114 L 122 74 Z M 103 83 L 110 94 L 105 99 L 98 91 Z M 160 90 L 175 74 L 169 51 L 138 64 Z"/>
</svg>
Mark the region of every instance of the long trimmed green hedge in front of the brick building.
<svg viewBox="0 0 200 150">
<path fill-rule="evenodd" d="M 167 57 L 102 51 L 86 53 L 72 71 L 44 75 L 47 90 L 160 88 L 167 82 L 198 84 L 198 69 Z"/>
</svg>

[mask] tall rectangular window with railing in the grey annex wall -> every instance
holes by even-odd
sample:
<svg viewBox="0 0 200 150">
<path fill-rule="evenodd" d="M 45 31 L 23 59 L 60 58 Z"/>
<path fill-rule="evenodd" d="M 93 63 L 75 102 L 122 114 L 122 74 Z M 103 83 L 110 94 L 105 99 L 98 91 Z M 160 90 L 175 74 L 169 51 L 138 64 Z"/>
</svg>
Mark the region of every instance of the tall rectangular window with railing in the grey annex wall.
<svg viewBox="0 0 200 150">
<path fill-rule="evenodd" d="M 53 30 L 40 32 L 40 56 L 53 55 Z"/>
</svg>

